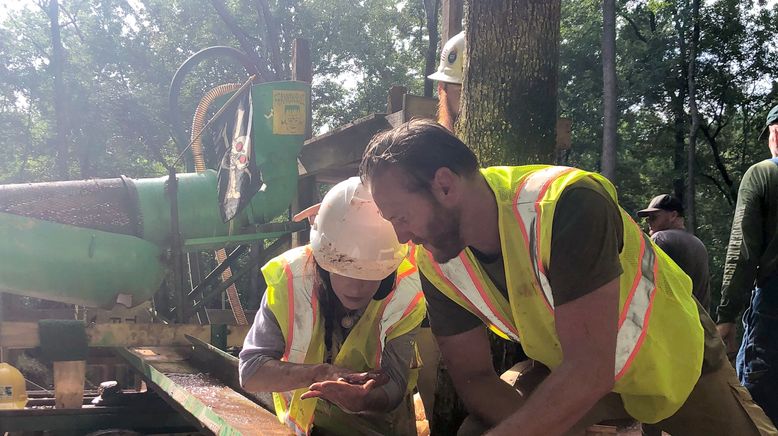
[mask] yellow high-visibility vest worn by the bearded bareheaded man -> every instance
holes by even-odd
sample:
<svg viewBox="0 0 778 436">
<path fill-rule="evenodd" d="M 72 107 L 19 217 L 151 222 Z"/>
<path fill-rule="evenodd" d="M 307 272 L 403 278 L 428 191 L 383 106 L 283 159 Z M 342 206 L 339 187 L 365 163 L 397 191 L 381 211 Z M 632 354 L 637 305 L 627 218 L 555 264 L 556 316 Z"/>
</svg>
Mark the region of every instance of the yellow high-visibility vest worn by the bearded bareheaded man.
<svg viewBox="0 0 778 436">
<path fill-rule="evenodd" d="M 505 262 L 506 299 L 469 249 L 438 264 L 417 247 L 419 269 L 453 301 L 498 335 L 521 342 L 527 356 L 552 370 L 562 362 L 554 298 L 546 271 L 554 210 L 562 192 L 584 177 L 616 201 L 599 174 L 560 166 L 482 169 L 497 200 Z M 614 392 L 635 419 L 655 423 L 673 415 L 697 383 L 703 329 L 691 279 L 621 210 L 624 248 Z M 593 313 L 592 316 L 597 316 Z"/>
</svg>

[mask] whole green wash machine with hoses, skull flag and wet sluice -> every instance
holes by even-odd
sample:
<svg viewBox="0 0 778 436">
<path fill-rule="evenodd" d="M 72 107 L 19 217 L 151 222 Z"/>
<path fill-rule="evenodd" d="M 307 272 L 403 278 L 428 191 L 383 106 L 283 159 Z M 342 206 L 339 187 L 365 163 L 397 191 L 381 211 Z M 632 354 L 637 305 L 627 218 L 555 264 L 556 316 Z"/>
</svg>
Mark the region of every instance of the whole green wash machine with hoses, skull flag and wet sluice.
<svg viewBox="0 0 778 436">
<path fill-rule="evenodd" d="M 237 59 L 253 76 L 242 86 L 220 85 L 209 91 L 198 105 L 193 135 L 185 138 L 179 130 L 182 122 L 173 115 L 177 89 L 194 65 L 214 55 Z M 228 336 L 245 334 L 248 326 L 238 326 L 236 332 L 225 325 L 186 323 L 204 314 L 209 299 L 255 270 L 263 256 L 283 247 L 286 236 L 307 228 L 285 217 L 297 195 L 298 154 L 310 129 L 310 84 L 254 84 L 256 74 L 246 56 L 229 47 L 202 50 L 176 72 L 170 95 L 173 136 L 181 152 L 176 163 L 192 151 L 194 165 L 187 162 L 187 168 L 196 171 L 177 173 L 173 163 L 166 165 L 168 175 L 158 178 L 0 185 L 0 292 L 100 308 L 117 303 L 131 307 L 153 298 L 157 317 L 170 321 L 77 322 L 90 347 L 115 350 L 168 403 L 170 407 L 163 405 L 164 416 L 159 407 L 145 406 L 156 397 L 134 392 L 122 396 L 128 404 L 116 406 L 0 411 L 0 433 L 84 434 L 121 425 L 219 435 L 289 434 L 266 410 L 272 410 L 272 401 L 240 388 L 234 357 L 208 344 L 192 348 L 191 341 L 198 343 L 187 336 L 204 335 L 224 347 Z M 205 123 L 211 105 L 219 107 L 211 121 L 220 126 L 216 133 L 221 142 L 218 150 L 209 150 L 217 155 L 218 170 L 204 165 L 199 141 L 211 124 Z M 276 242 L 265 247 L 269 239 Z M 198 257 L 225 247 L 232 250 L 229 255 L 217 253 L 217 266 L 202 274 L 199 268 L 205 262 Z M 249 247 L 251 254 L 241 264 Z M 224 275 L 228 268 L 236 271 Z M 185 285 L 187 272 L 191 286 Z M 242 310 L 238 313 L 243 316 Z M 236 320 L 246 321 L 237 315 Z M 201 316 L 196 322 L 208 319 Z M 28 334 L 37 325 L 14 324 L 0 322 L 5 329 L 0 331 L 0 350 L 9 345 L 43 347 L 40 331 Z M 103 329 L 110 331 L 101 335 Z M 58 392 L 56 374 L 54 384 Z M 133 397 L 142 399 L 130 404 Z M 118 424 L 121 417 L 137 419 Z"/>
</svg>

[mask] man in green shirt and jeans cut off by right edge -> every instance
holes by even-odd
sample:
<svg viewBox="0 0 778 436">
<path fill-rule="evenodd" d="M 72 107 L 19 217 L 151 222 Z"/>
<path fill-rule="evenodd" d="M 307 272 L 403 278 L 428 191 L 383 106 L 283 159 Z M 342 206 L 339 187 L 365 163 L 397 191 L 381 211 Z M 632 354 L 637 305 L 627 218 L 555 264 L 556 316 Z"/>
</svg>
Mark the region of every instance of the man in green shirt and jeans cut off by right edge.
<svg viewBox="0 0 778 436">
<path fill-rule="evenodd" d="M 737 350 L 735 320 L 743 314 L 737 352 L 740 381 L 773 422 L 778 421 L 778 106 L 759 139 L 768 136 L 772 159 L 743 174 L 729 236 L 718 329 Z M 749 302 L 750 299 L 750 302 Z"/>
</svg>

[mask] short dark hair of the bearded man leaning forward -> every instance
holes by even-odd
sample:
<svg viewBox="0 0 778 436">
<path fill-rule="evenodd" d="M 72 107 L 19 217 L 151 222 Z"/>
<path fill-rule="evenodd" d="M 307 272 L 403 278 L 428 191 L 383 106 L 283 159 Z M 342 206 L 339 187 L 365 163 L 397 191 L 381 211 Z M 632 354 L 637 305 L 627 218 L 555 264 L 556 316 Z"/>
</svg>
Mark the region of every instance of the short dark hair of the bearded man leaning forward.
<svg viewBox="0 0 778 436">
<path fill-rule="evenodd" d="M 439 168 L 464 177 L 478 171 L 478 159 L 467 145 L 431 120 L 411 120 L 374 136 L 362 156 L 359 175 L 369 182 L 393 165 L 408 175 L 405 184 L 410 190 L 426 190 Z"/>
</svg>

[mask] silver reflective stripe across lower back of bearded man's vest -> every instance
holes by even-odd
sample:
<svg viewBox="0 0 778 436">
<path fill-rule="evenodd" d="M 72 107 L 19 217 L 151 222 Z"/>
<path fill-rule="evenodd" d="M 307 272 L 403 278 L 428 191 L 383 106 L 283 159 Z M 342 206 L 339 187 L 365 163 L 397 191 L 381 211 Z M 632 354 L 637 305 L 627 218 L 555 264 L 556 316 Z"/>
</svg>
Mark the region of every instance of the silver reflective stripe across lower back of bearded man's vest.
<svg viewBox="0 0 778 436">
<path fill-rule="evenodd" d="M 648 328 L 648 317 L 651 311 L 651 303 L 656 291 L 654 268 L 656 267 L 656 253 L 651 246 L 648 236 L 640 232 L 642 237 L 640 268 L 637 272 L 636 282 L 631 289 L 631 300 L 624 314 L 619 317 L 619 333 L 616 339 L 616 378 L 620 378 L 628 369 L 638 345 L 642 342 L 645 329 Z"/>
</svg>

